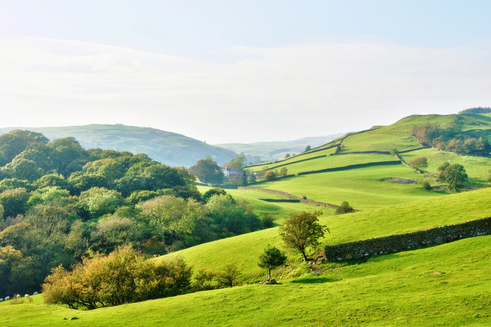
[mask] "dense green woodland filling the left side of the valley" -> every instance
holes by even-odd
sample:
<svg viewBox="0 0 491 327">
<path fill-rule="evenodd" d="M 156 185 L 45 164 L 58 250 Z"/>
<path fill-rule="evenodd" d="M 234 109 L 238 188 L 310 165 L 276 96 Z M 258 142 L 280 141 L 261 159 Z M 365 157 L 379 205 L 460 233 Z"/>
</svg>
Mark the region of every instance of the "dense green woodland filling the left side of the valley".
<svg viewBox="0 0 491 327">
<path fill-rule="evenodd" d="M 262 228 L 247 201 L 202 196 L 187 169 L 145 154 L 12 131 L 0 158 L 2 296 L 39 291 L 52 268 L 121 245 L 158 255 Z"/>
</svg>

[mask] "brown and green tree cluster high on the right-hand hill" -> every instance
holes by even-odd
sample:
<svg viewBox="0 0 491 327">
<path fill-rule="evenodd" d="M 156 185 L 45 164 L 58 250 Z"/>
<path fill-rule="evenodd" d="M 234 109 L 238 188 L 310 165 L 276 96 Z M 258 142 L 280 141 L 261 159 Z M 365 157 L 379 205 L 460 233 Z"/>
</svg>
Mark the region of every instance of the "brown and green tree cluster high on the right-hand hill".
<svg viewBox="0 0 491 327">
<path fill-rule="evenodd" d="M 459 120 L 453 120 L 444 125 L 438 123 L 430 124 L 428 122 L 425 125 L 414 125 L 411 128 L 411 135 L 416 137 L 418 142 L 423 145 L 433 146 L 445 151 L 490 153 L 491 145 L 487 139 L 483 140 L 482 137 L 473 138 L 460 135 L 461 130 L 462 122 Z"/>
</svg>

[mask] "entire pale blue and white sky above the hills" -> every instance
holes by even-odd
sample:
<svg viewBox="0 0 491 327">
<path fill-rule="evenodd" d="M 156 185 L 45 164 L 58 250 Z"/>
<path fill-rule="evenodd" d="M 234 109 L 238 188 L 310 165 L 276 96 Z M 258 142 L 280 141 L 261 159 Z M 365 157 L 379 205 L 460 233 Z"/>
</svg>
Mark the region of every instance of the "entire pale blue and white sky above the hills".
<svg viewBox="0 0 491 327">
<path fill-rule="evenodd" d="M 491 107 L 491 1 L 0 0 L 0 127 L 291 140 Z"/>
</svg>

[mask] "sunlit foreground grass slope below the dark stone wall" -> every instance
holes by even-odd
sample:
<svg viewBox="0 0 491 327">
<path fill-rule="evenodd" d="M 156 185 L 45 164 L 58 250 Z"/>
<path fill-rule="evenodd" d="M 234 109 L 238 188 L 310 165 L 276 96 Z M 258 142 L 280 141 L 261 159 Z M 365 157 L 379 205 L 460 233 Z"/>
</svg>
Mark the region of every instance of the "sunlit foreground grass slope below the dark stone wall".
<svg viewBox="0 0 491 327">
<path fill-rule="evenodd" d="M 1 304 L 3 326 L 489 326 L 491 236 L 306 274 L 91 311 Z M 320 267 L 322 268 L 322 266 Z M 78 320 L 63 318 L 78 317 Z"/>
</svg>

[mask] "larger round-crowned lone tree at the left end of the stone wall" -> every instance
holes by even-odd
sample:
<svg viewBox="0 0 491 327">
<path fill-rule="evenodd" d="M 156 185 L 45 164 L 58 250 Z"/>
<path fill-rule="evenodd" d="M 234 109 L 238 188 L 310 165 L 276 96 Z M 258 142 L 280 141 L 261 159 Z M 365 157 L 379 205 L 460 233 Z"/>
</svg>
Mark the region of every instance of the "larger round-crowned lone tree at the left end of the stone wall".
<svg viewBox="0 0 491 327">
<path fill-rule="evenodd" d="M 325 231 L 329 232 L 329 228 L 319 224 L 317 217 L 321 215 L 322 211 L 292 212 L 279 227 L 279 235 L 285 245 L 299 251 L 305 261 L 307 261 L 305 254 L 307 247 L 318 246 L 319 238 L 324 237 Z"/>
</svg>

